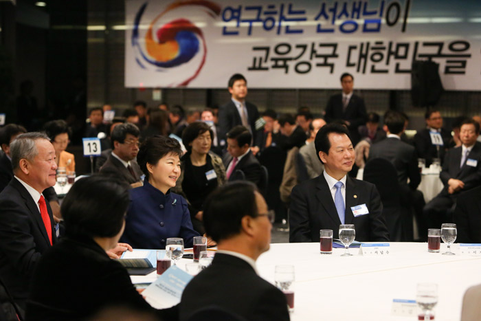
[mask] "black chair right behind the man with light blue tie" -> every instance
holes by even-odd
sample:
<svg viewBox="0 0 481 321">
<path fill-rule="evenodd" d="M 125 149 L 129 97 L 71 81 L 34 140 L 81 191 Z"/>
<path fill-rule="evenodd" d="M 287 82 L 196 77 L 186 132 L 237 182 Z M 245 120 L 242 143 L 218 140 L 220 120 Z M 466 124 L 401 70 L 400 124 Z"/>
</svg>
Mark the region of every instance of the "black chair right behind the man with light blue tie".
<svg viewBox="0 0 481 321">
<path fill-rule="evenodd" d="M 383 215 L 388 226 L 390 240 L 393 242 L 406 241 L 408 237 L 401 206 L 401 188 L 394 166 L 387 159 L 372 159 L 364 168 L 363 180 L 374 184 L 381 196 Z M 407 230 L 409 229 L 407 228 Z"/>
</svg>

